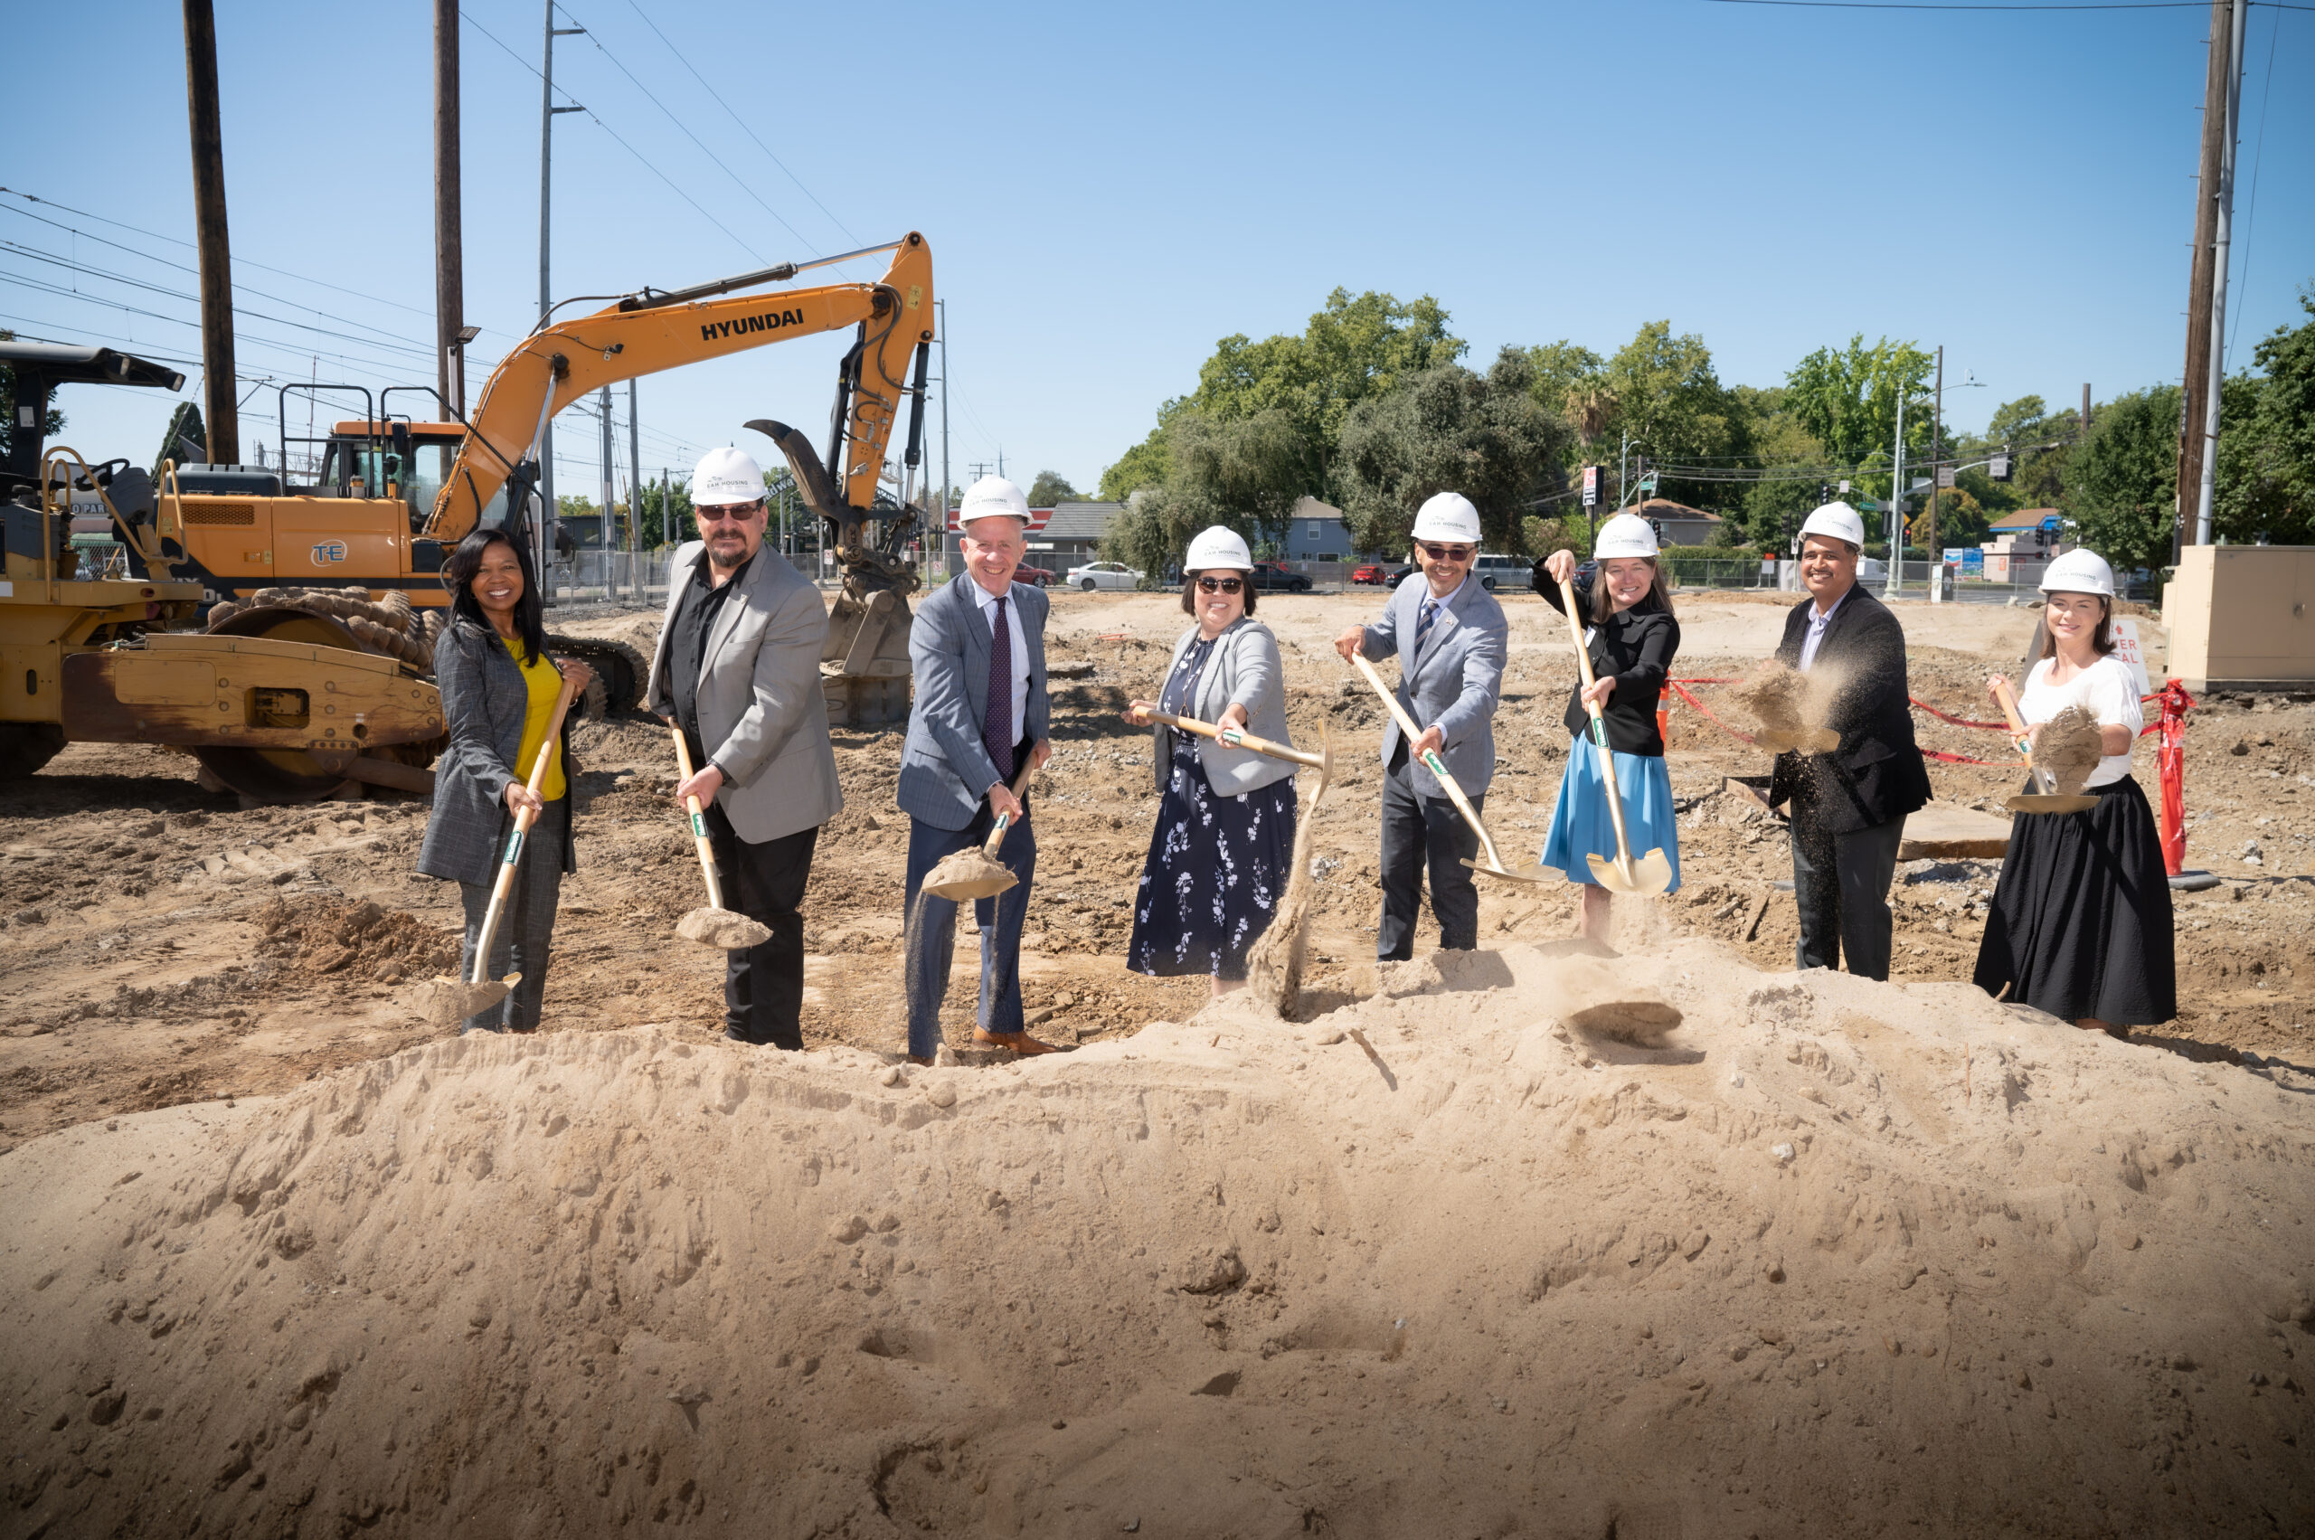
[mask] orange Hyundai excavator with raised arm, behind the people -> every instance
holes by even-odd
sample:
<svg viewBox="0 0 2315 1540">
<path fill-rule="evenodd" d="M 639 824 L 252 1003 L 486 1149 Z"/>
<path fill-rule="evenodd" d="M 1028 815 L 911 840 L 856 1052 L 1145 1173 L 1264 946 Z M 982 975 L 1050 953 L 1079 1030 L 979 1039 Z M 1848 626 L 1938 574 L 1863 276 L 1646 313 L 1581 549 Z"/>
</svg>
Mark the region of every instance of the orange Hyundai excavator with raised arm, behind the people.
<svg viewBox="0 0 2315 1540">
<path fill-rule="evenodd" d="M 891 259 L 875 283 L 762 292 L 808 269 L 877 252 Z M 898 720 L 907 713 L 907 595 L 917 588 L 914 563 L 901 549 L 924 526 L 914 503 L 933 338 L 933 255 L 914 232 L 820 262 L 676 292 L 641 289 L 593 315 L 549 317 L 500 359 L 472 421 L 419 421 L 394 410 L 394 396 L 435 396 L 431 387 L 389 387 L 375 398 L 366 387 L 282 387 L 285 447 L 317 442 L 289 435 L 296 394 L 357 391 L 363 417 L 338 421 L 319 440 L 310 482 L 248 465 L 164 470 L 162 544 L 218 600 L 208 611 L 215 635 L 338 641 L 424 669 L 449 602 L 442 560 L 468 530 L 500 523 L 544 565 L 535 456 L 556 412 L 604 384 L 843 327 L 857 336 L 838 368 L 826 456 L 780 421 L 748 426 L 787 459 L 803 505 L 829 523 L 843 572 L 822 662 L 831 723 Z M 903 398 L 912 405 L 910 438 L 901 496 L 891 498 L 880 496 L 880 479 Z M 637 704 L 646 665 L 632 648 L 563 635 L 549 641 L 595 667 L 597 709 Z M 326 764 L 308 769 L 275 757 L 259 771 L 227 760 L 204 753 L 227 783 L 245 787 L 262 778 L 269 794 L 319 794 L 336 785 Z"/>
</svg>

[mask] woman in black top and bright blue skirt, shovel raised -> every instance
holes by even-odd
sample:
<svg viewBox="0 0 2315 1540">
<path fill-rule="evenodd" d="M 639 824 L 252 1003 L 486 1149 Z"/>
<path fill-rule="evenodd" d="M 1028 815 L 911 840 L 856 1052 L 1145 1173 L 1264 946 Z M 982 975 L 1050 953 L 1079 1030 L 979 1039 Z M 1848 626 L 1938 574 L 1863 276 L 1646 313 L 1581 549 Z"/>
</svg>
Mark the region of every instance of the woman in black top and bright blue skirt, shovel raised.
<svg viewBox="0 0 2315 1540">
<path fill-rule="evenodd" d="M 1595 570 L 1577 577 L 1574 551 L 1553 551 L 1535 563 L 1535 591 L 1553 609 L 1560 584 L 1574 579 L 1577 611 L 1590 623 L 1583 646 L 1590 653 L 1593 685 L 1567 692 L 1567 773 L 1560 778 L 1560 801 L 1551 808 L 1551 834 L 1544 838 L 1544 866 L 1583 885 L 1583 938 L 1607 943 L 1609 892 L 1588 880 L 1586 857 L 1616 859 L 1616 824 L 1607 811 L 1607 787 L 1600 783 L 1600 748 L 1590 739 L 1586 697 L 1600 704 L 1607 720 L 1607 746 L 1616 755 L 1616 790 L 1623 794 L 1623 827 L 1632 855 L 1662 850 L 1671 864 L 1671 887 L 1681 887 L 1681 838 L 1671 817 L 1671 776 L 1664 773 L 1664 734 L 1655 729 L 1655 702 L 1681 651 L 1681 623 L 1671 618 L 1671 586 L 1658 560 L 1655 526 L 1639 514 L 1616 514 L 1600 526 L 1593 544 Z"/>
</svg>

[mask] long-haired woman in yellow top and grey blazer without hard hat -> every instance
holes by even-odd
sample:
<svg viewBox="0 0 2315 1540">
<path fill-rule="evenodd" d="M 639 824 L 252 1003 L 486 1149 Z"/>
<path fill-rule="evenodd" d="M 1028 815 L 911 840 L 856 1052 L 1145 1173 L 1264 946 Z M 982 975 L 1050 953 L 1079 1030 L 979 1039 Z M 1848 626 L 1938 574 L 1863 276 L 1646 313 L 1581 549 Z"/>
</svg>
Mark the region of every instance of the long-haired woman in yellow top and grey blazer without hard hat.
<svg viewBox="0 0 2315 1540">
<path fill-rule="evenodd" d="M 475 943 L 491 908 L 491 887 L 505 859 L 519 808 L 539 808 L 523 841 L 523 855 L 498 919 L 488 977 L 523 975 L 502 1005 L 465 1019 L 468 1033 L 528 1033 L 539 1024 L 546 993 L 546 938 L 556 929 L 563 873 L 572 861 L 572 799 L 576 778 L 569 734 L 558 734 L 558 755 L 546 767 L 539 792 L 530 792 L 530 767 L 546 743 L 546 720 L 563 692 L 565 672 L 586 690 L 593 676 L 583 662 L 565 660 L 560 672 L 546 658 L 546 625 L 530 553 L 507 530 L 472 530 L 442 563 L 442 586 L 451 595 L 451 623 L 435 644 L 435 683 L 449 748 L 435 760 L 435 806 L 419 845 L 419 871 L 458 885 L 465 905 L 465 945 L 458 977 L 475 977 Z"/>
</svg>

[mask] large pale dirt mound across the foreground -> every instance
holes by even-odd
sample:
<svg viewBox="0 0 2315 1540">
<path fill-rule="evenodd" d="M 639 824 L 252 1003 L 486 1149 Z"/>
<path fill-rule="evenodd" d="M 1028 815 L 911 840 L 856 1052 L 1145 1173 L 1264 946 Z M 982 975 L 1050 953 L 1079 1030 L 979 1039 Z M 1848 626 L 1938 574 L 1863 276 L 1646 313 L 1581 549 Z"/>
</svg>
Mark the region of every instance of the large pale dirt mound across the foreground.
<svg viewBox="0 0 2315 1540">
<path fill-rule="evenodd" d="M 1572 954 L 991 1070 L 465 1037 L 28 1142 L 16 1521 L 2315 1526 L 2306 1098 L 1706 943 L 1620 963 L 1676 1042 L 1583 1040 Z"/>
</svg>

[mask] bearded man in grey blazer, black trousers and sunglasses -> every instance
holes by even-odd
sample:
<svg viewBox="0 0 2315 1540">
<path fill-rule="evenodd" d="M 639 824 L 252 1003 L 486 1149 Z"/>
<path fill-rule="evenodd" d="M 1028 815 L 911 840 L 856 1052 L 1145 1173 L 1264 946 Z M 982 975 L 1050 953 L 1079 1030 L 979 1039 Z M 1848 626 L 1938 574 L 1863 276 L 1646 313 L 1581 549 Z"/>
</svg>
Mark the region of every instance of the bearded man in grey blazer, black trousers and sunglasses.
<svg viewBox="0 0 2315 1540">
<path fill-rule="evenodd" d="M 820 824 L 845 806 L 820 692 L 829 609 L 764 549 L 764 472 L 711 449 L 692 472 L 704 542 L 676 549 L 644 702 L 683 727 L 725 903 L 771 938 L 725 963 L 725 1035 L 803 1047 L 803 885 Z"/>
</svg>

